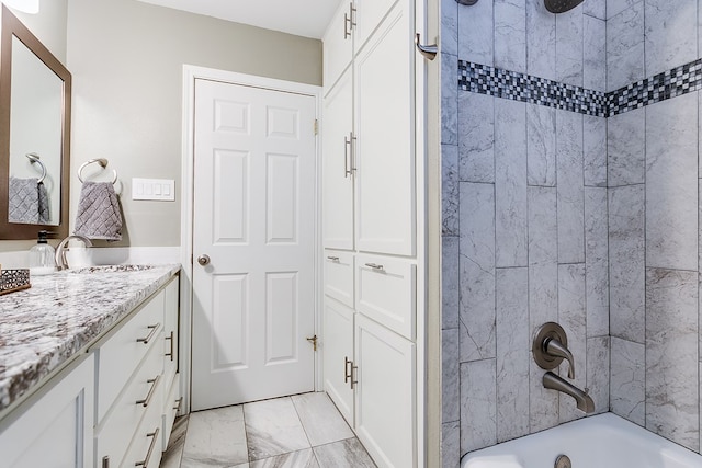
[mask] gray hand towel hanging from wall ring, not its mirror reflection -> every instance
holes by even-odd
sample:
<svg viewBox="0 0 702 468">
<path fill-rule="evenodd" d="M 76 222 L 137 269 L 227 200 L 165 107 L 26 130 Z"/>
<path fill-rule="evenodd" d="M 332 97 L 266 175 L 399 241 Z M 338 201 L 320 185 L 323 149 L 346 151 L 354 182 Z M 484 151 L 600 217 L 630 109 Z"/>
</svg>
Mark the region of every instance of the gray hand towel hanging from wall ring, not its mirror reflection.
<svg viewBox="0 0 702 468">
<path fill-rule="evenodd" d="M 111 182 L 83 183 L 76 233 L 88 239 L 122 240 L 120 201 Z"/>
</svg>

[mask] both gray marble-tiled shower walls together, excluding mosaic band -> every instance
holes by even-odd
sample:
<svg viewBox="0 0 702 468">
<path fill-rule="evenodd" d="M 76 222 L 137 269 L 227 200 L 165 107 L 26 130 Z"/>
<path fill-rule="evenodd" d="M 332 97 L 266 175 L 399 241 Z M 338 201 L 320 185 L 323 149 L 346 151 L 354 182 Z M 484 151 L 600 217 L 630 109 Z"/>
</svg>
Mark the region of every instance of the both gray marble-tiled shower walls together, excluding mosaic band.
<svg viewBox="0 0 702 468">
<path fill-rule="evenodd" d="M 700 84 L 668 99 L 652 80 L 663 98 L 611 101 L 604 118 L 456 77 L 465 60 L 616 99 L 702 57 L 702 0 L 441 7 L 443 466 L 581 415 L 530 353 L 552 320 L 598 412 L 700 452 Z"/>
</svg>

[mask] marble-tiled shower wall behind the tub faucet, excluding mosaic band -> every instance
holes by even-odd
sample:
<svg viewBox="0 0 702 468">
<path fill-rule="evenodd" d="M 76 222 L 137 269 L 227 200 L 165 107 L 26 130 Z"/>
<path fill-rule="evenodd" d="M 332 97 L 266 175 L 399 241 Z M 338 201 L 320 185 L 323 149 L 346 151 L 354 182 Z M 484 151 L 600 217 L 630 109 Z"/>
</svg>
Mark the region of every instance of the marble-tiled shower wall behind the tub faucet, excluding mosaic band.
<svg viewBox="0 0 702 468">
<path fill-rule="evenodd" d="M 536 327 L 561 322 L 609 410 L 607 121 L 456 90 L 458 59 L 605 91 L 605 4 L 442 0 L 443 465 L 579 418 L 543 388 Z M 565 370 L 562 365 L 562 372 Z"/>
</svg>

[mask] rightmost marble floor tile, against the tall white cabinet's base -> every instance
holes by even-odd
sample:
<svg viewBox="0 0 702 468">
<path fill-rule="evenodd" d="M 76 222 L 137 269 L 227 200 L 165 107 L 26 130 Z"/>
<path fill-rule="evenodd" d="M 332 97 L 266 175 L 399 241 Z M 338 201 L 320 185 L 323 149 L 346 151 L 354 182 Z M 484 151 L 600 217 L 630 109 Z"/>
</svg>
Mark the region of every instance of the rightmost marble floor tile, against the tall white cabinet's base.
<svg viewBox="0 0 702 468">
<path fill-rule="evenodd" d="M 353 437 L 353 431 L 327 393 L 312 392 L 291 398 L 313 447 Z"/>
</svg>

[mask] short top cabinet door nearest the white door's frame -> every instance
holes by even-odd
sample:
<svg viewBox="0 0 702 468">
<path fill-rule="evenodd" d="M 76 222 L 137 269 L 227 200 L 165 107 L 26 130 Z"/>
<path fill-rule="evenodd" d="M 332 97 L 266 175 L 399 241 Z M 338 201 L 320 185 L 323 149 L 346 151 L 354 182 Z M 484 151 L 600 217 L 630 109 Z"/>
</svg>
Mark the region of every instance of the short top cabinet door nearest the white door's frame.
<svg viewBox="0 0 702 468">
<path fill-rule="evenodd" d="M 321 38 L 324 44 L 325 94 L 351 64 L 353 55 L 353 33 L 350 22 L 351 4 L 350 0 L 342 1 L 339 4 Z"/>
</svg>

